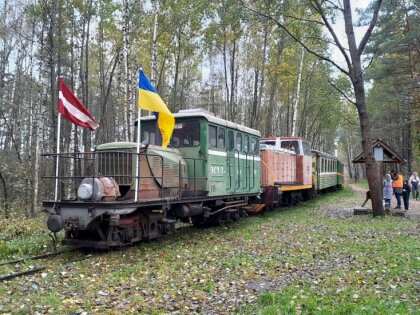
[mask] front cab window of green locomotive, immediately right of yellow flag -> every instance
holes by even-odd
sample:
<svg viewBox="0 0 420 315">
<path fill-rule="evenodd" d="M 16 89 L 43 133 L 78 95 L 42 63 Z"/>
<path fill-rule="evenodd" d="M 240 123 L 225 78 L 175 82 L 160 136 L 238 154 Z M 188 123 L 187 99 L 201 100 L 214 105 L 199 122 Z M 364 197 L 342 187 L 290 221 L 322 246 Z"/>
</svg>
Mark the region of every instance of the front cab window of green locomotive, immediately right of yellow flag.
<svg viewBox="0 0 420 315">
<path fill-rule="evenodd" d="M 193 147 L 200 145 L 200 123 L 184 121 L 175 124 L 172 133 L 172 147 Z"/>
</svg>

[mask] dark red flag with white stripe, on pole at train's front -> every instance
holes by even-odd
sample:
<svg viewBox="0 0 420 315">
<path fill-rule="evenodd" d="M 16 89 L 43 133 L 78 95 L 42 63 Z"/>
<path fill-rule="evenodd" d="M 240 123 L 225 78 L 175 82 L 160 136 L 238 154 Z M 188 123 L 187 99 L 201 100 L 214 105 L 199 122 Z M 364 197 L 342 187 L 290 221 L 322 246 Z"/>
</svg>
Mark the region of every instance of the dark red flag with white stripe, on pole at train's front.
<svg viewBox="0 0 420 315">
<path fill-rule="evenodd" d="M 58 112 L 67 120 L 78 126 L 94 131 L 99 124 L 83 106 L 72 91 L 65 85 L 63 78 L 58 81 Z"/>
</svg>

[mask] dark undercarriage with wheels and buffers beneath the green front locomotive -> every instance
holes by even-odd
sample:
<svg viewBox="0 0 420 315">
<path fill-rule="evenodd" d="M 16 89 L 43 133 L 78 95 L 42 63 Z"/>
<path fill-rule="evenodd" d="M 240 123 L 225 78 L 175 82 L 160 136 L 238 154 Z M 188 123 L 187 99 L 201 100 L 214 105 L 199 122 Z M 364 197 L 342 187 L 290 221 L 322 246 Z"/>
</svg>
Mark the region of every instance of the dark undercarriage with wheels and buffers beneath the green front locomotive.
<svg viewBox="0 0 420 315">
<path fill-rule="evenodd" d="M 254 198 L 255 196 L 250 196 Z M 195 226 L 221 225 L 247 216 L 248 196 L 203 200 L 188 203 L 165 203 L 137 210 L 56 207 L 49 227 L 64 228 L 63 244 L 110 249 L 151 240 L 175 231 L 176 222 Z M 130 208 L 133 209 L 133 208 Z M 164 210 L 163 210 L 164 209 Z"/>
</svg>

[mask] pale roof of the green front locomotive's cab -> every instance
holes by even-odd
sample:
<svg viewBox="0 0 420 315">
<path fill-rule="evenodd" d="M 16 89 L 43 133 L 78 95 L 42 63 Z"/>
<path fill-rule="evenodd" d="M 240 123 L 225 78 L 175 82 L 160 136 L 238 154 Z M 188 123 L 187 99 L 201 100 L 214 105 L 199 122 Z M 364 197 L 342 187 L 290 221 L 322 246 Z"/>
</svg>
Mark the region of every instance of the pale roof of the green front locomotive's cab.
<svg viewBox="0 0 420 315">
<path fill-rule="evenodd" d="M 256 129 L 252 129 L 252 128 L 249 128 L 249 127 L 239 125 L 239 124 L 236 124 L 234 122 L 225 120 L 223 118 L 217 117 L 214 114 L 212 114 L 212 113 L 210 113 L 210 112 L 208 112 L 204 109 L 200 109 L 200 108 L 198 108 L 198 109 L 183 109 L 183 110 L 180 110 L 178 113 L 175 113 L 174 116 L 175 116 L 175 119 L 177 119 L 177 118 L 187 118 L 187 117 L 204 117 L 209 122 L 212 122 L 214 124 L 222 125 L 222 126 L 229 127 L 229 128 L 232 128 L 232 129 L 237 129 L 237 130 L 240 130 L 242 132 L 246 132 L 246 133 L 252 134 L 254 136 L 261 137 L 261 133 Z M 142 117 L 141 118 L 141 120 L 145 120 L 145 121 L 155 120 L 155 119 L 156 119 L 155 116 L 147 116 L 147 117 Z"/>
</svg>

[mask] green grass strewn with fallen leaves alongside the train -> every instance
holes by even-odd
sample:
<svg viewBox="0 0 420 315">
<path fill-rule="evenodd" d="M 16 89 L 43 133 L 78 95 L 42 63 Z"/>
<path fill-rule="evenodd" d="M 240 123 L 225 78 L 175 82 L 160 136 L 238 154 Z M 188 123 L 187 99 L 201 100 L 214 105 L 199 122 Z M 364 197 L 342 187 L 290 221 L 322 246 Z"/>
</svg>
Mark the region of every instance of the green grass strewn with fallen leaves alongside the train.
<svg viewBox="0 0 420 315">
<path fill-rule="evenodd" d="M 124 251 L 54 263 L 0 283 L 0 313 L 418 313 L 418 222 L 334 215 L 359 203 L 345 189 L 226 226 L 186 228 Z M 38 253 L 49 238 L 41 224 L 27 223 L 19 244 Z M 0 231 L 2 259 L 20 253 L 18 226 Z"/>
</svg>

